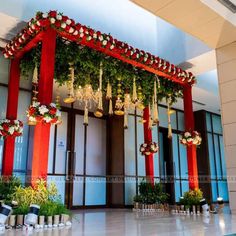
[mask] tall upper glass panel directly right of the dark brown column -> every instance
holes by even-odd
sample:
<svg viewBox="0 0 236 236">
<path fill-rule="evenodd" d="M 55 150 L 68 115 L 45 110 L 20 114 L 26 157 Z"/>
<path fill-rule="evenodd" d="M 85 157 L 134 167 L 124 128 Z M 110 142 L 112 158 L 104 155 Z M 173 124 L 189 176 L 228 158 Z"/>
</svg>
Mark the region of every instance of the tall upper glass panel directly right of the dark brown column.
<svg viewBox="0 0 236 236">
<path fill-rule="evenodd" d="M 135 171 L 135 117 L 129 116 L 129 128 L 125 138 L 125 175 L 136 175 Z"/>
</svg>

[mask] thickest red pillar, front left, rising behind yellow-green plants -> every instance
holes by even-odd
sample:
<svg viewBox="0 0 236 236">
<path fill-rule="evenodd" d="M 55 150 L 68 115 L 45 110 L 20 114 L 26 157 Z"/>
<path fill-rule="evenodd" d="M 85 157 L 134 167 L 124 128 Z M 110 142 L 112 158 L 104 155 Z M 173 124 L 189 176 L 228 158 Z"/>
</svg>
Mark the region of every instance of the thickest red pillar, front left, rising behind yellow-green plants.
<svg viewBox="0 0 236 236">
<path fill-rule="evenodd" d="M 48 105 L 52 101 L 56 48 L 56 31 L 49 28 L 42 39 L 38 100 Z M 47 177 L 50 124 L 39 123 L 34 130 L 31 183 Z"/>
</svg>

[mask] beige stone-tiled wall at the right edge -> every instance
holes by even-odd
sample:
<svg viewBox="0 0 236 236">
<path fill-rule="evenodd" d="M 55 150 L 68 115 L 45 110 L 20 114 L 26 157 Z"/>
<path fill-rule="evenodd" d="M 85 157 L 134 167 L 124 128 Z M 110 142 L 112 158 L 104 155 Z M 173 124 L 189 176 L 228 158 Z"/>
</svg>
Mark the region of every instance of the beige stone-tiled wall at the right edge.
<svg viewBox="0 0 236 236">
<path fill-rule="evenodd" d="M 230 207 L 236 213 L 236 42 L 216 49 Z"/>
</svg>

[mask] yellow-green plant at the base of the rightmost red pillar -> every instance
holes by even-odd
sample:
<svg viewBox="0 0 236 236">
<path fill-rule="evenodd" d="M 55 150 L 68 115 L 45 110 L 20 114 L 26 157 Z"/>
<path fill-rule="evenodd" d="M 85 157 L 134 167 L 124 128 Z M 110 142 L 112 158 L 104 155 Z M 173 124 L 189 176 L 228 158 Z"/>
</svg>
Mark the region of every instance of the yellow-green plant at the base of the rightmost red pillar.
<svg viewBox="0 0 236 236">
<path fill-rule="evenodd" d="M 184 193 L 184 196 L 180 198 L 180 204 L 193 206 L 199 205 L 200 200 L 203 199 L 203 193 L 200 189 L 189 190 Z"/>
</svg>

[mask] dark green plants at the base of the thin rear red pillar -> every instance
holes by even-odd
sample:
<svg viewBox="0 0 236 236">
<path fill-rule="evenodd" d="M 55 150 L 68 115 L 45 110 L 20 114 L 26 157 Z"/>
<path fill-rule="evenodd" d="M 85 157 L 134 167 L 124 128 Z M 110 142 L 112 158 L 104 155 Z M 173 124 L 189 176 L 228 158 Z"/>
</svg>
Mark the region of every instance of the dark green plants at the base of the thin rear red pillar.
<svg viewBox="0 0 236 236">
<path fill-rule="evenodd" d="M 163 191 L 161 183 L 155 183 L 154 186 L 142 181 L 139 184 L 139 195 L 134 196 L 135 202 L 154 204 L 154 203 L 166 203 L 169 195 Z"/>
</svg>

